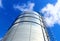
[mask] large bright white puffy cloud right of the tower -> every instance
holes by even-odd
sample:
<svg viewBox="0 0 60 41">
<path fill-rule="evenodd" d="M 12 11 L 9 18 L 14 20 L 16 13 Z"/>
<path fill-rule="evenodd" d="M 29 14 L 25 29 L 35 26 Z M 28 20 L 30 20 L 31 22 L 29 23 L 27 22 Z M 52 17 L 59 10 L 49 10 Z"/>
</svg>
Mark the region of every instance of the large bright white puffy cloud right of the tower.
<svg viewBox="0 0 60 41">
<path fill-rule="evenodd" d="M 60 0 L 55 5 L 48 3 L 41 9 L 44 14 L 46 26 L 53 27 L 54 24 L 60 25 Z"/>
</svg>

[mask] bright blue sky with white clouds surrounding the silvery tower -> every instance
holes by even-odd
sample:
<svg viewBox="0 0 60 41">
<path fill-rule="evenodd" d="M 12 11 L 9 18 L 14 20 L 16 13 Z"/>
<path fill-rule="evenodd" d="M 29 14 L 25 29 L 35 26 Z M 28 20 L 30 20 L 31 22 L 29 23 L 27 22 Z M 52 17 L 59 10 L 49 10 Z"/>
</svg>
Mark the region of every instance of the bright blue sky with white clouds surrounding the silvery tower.
<svg viewBox="0 0 60 41">
<path fill-rule="evenodd" d="M 60 41 L 60 0 L 0 0 L 0 40 L 22 11 L 42 13 L 51 41 Z"/>
</svg>

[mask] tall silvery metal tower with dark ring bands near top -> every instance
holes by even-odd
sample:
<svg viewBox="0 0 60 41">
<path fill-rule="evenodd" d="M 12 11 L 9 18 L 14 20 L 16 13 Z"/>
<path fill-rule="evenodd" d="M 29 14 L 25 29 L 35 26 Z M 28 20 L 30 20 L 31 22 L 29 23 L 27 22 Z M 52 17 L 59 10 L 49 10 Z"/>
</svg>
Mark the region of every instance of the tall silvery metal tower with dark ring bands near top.
<svg viewBox="0 0 60 41">
<path fill-rule="evenodd" d="M 24 11 L 3 41 L 49 41 L 49 37 L 41 15 L 34 11 Z"/>
</svg>

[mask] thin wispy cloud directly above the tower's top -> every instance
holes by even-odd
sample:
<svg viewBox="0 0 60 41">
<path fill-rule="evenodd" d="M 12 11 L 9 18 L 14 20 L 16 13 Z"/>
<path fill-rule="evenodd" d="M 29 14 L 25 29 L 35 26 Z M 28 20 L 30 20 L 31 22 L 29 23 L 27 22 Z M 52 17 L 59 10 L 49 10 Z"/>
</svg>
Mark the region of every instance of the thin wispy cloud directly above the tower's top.
<svg viewBox="0 0 60 41">
<path fill-rule="evenodd" d="M 34 5 L 35 4 L 32 3 L 32 2 L 28 2 L 27 4 L 23 4 L 22 6 L 20 6 L 20 5 L 14 5 L 13 7 L 15 9 L 20 10 L 20 11 L 28 11 L 28 10 L 33 10 Z"/>
</svg>

